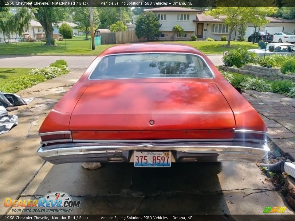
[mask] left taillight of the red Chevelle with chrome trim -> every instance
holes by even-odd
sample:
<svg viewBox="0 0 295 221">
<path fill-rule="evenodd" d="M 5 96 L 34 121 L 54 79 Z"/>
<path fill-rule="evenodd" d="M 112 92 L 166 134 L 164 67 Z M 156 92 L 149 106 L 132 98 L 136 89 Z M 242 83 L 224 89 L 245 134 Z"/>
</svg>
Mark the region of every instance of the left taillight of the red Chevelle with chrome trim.
<svg viewBox="0 0 295 221">
<path fill-rule="evenodd" d="M 53 131 L 39 134 L 41 137 L 41 144 L 70 142 L 72 135 L 70 131 Z"/>
</svg>

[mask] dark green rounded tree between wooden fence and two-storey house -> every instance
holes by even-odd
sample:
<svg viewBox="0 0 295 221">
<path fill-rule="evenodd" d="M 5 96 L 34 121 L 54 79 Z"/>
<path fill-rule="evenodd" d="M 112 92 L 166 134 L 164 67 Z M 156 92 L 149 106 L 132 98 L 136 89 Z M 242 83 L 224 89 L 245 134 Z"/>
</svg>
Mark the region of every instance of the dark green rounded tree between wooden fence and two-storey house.
<svg viewBox="0 0 295 221">
<path fill-rule="evenodd" d="M 138 38 L 146 37 L 148 41 L 157 39 L 161 34 L 159 31 L 161 26 L 159 19 L 151 11 L 140 14 L 136 20 L 136 36 Z"/>
</svg>

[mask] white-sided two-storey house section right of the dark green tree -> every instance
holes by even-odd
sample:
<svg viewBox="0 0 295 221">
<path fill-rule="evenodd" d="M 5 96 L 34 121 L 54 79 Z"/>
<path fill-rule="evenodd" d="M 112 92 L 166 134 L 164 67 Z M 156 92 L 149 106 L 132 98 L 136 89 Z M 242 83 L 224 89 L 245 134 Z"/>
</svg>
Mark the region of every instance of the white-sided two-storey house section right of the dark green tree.
<svg viewBox="0 0 295 221">
<path fill-rule="evenodd" d="M 196 14 L 202 13 L 202 10 L 167 6 L 145 9 L 144 11 L 153 12 L 162 24 L 159 40 L 191 39 L 191 36 L 196 35 L 196 24 L 193 20 L 196 18 Z M 175 25 L 180 25 L 184 29 L 183 36 L 172 31 Z"/>
</svg>

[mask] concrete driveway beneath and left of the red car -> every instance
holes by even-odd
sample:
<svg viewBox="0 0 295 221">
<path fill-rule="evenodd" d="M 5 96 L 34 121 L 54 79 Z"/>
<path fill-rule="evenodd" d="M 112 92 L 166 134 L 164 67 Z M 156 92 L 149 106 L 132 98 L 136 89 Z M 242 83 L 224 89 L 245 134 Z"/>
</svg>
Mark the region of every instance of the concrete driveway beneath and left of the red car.
<svg viewBox="0 0 295 221">
<path fill-rule="evenodd" d="M 35 99 L 11 112 L 19 124 L 0 135 L 0 214 L 19 214 L 4 207 L 5 197 L 27 200 L 56 191 L 81 201 L 71 214 L 263 214 L 266 206 L 287 206 L 278 220 L 294 214 L 254 163 L 183 163 L 168 169 L 123 163 L 93 171 L 79 163 L 44 163 L 36 154 L 37 131 L 81 74 L 74 70 L 18 93 Z"/>
</svg>

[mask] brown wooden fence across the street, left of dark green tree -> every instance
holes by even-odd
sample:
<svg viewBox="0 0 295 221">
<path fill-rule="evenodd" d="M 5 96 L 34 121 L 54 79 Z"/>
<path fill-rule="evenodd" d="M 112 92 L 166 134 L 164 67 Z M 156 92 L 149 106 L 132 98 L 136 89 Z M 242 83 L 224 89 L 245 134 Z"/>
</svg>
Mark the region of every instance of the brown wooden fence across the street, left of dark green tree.
<svg viewBox="0 0 295 221">
<path fill-rule="evenodd" d="M 115 33 L 100 33 L 100 35 L 102 45 L 125 44 L 147 41 L 145 38 L 138 39 L 134 30 Z"/>
</svg>

